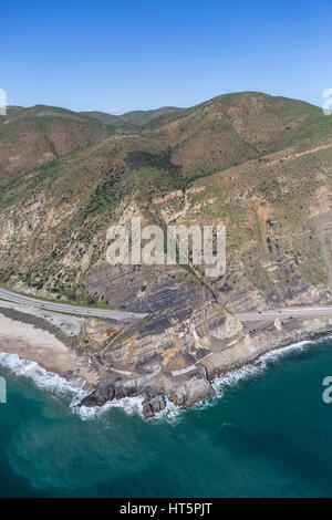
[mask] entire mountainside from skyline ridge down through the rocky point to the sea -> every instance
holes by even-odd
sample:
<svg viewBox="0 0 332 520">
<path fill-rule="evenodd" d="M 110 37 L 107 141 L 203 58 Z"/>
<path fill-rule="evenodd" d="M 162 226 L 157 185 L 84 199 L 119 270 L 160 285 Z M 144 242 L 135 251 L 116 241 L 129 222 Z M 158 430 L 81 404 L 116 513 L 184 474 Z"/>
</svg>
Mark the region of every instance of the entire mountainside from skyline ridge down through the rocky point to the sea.
<svg viewBox="0 0 332 520">
<path fill-rule="evenodd" d="M 104 374 L 89 404 L 144 393 L 147 416 L 160 394 L 187 406 L 214 375 L 325 330 L 293 320 L 276 339 L 273 322 L 258 334 L 232 314 L 332 303 L 332 118 L 320 108 L 249 92 L 118 132 L 37 106 L 0 121 L 0 283 L 148 314 L 81 341 Z M 133 216 L 225 223 L 225 275 L 110 266 L 106 231 Z"/>
</svg>

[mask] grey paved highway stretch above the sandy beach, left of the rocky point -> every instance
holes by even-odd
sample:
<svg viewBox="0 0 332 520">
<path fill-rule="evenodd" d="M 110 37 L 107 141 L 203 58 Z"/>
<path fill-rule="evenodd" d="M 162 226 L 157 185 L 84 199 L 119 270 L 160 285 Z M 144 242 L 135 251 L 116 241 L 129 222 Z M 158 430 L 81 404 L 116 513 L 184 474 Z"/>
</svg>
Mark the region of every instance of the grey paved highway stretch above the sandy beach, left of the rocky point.
<svg viewBox="0 0 332 520">
<path fill-rule="evenodd" d="M 35 306 L 38 309 L 44 309 L 46 311 L 72 313 L 82 316 L 95 316 L 104 319 L 108 318 L 118 321 L 143 320 L 143 318 L 147 315 L 137 312 L 127 312 L 111 309 L 94 309 L 89 306 L 71 305 L 68 303 L 48 302 L 43 300 L 38 300 L 37 298 L 18 294 L 17 292 L 12 292 L 8 289 L 2 288 L 0 288 L 0 299 L 8 300 L 14 303 L 27 304 L 29 306 Z"/>
</svg>

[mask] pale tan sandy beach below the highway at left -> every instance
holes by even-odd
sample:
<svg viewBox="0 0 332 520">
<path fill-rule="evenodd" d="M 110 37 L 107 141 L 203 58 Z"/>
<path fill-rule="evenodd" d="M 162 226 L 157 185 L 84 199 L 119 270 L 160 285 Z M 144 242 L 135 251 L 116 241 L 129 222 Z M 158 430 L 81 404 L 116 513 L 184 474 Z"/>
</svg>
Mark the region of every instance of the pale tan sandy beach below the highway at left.
<svg viewBox="0 0 332 520">
<path fill-rule="evenodd" d="M 68 379 L 84 378 L 94 385 L 97 376 L 82 360 L 50 332 L 0 314 L 0 352 L 34 361 L 46 371 Z"/>
</svg>

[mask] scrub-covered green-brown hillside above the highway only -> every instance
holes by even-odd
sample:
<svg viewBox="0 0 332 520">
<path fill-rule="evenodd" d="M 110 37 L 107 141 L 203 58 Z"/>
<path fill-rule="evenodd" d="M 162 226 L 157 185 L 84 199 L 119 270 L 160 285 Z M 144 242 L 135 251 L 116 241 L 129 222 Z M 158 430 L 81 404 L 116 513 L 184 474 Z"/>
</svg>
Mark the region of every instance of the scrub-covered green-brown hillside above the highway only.
<svg viewBox="0 0 332 520">
<path fill-rule="evenodd" d="M 225 95 L 128 134 L 37 106 L 0 123 L 0 137 L 1 268 L 13 284 L 129 304 L 135 284 L 120 297 L 111 282 L 100 289 L 97 273 L 106 269 L 107 226 L 137 206 L 152 221 L 226 221 L 228 273 L 215 282 L 221 299 L 226 289 L 231 301 L 252 283 L 263 305 L 272 295 L 292 299 L 300 287 L 329 299 L 329 248 L 313 231 L 328 217 L 314 223 L 309 209 L 329 208 L 332 119 L 314 106 L 259 93 Z M 204 190 L 186 196 L 195 186 Z M 154 202 L 177 190 L 184 195 Z M 276 274 L 273 266 L 284 262 L 284 274 Z"/>
</svg>

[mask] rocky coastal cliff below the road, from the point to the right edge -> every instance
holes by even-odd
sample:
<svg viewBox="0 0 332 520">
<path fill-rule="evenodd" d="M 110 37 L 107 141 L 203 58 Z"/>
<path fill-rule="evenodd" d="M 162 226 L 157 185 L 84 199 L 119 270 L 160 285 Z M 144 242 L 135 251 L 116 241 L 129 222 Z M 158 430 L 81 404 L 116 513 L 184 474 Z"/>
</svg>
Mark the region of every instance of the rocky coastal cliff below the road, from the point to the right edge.
<svg viewBox="0 0 332 520">
<path fill-rule="evenodd" d="M 153 334 L 143 326 L 139 333 L 114 347 L 105 356 L 112 370 L 100 378 L 82 405 L 102 406 L 114 398 L 139 395 L 144 398 L 146 418 L 164 409 L 167 399 L 186 408 L 214 395 L 211 383 L 216 376 L 252 363 L 271 350 L 332 333 L 328 316 L 284 320 L 277 326 L 274 321 L 253 322 L 247 329 L 247 324 L 242 327 L 218 306 L 207 305 L 206 311 L 210 312 L 207 321 L 201 312 L 194 312 L 181 324 L 164 323 L 158 331 L 155 329 L 158 325 L 152 322 Z"/>
</svg>

